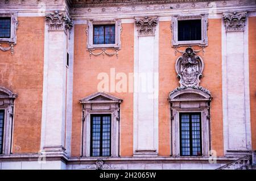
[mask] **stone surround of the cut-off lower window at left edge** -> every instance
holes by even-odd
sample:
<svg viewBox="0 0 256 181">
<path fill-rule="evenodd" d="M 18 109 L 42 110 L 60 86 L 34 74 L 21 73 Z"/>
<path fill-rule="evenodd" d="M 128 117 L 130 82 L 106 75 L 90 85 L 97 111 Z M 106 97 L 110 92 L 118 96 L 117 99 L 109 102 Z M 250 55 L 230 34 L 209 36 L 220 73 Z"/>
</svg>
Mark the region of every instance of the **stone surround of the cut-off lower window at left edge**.
<svg viewBox="0 0 256 181">
<path fill-rule="evenodd" d="M 0 110 L 5 110 L 3 126 L 3 154 L 11 154 L 14 101 L 18 95 L 5 87 L 0 87 Z"/>
</svg>

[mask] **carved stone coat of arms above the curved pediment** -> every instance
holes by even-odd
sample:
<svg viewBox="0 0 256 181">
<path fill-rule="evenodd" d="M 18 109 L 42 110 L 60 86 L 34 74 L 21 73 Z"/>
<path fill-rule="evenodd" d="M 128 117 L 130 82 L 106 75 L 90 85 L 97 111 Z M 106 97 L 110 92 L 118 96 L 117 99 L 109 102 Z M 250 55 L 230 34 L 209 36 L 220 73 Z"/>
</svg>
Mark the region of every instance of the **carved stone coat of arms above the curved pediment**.
<svg viewBox="0 0 256 181">
<path fill-rule="evenodd" d="M 203 70 L 203 60 L 196 55 L 191 47 L 188 47 L 176 61 L 176 72 L 177 78 L 180 79 L 180 87 L 199 87 Z"/>
</svg>

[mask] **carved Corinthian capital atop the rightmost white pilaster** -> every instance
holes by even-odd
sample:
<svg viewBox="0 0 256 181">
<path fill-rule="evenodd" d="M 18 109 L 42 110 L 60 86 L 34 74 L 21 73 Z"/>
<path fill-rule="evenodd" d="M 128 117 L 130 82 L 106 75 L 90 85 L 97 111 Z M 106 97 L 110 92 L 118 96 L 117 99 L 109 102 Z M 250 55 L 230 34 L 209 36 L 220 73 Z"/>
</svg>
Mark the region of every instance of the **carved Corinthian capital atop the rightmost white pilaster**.
<svg viewBox="0 0 256 181">
<path fill-rule="evenodd" d="M 244 31 L 246 16 L 246 12 L 223 14 L 226 31 Z"/>
</svg>

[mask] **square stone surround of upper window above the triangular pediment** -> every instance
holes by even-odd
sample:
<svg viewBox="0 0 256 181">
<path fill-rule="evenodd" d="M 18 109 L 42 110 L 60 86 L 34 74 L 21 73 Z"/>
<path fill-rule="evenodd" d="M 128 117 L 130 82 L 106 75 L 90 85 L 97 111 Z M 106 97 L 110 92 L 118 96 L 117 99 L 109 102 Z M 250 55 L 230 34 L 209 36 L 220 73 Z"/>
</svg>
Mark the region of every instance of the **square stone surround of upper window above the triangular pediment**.
<svg viewBox="0 0 256 181">
<path fill-rule="evenodd" d="M 115 24 L 115 44 L 93 44 L 93 26 Z M 87 49 L 114 48 L 121 49 L 121 19 L 88 20 L 87 24 Z"/>
</svg>

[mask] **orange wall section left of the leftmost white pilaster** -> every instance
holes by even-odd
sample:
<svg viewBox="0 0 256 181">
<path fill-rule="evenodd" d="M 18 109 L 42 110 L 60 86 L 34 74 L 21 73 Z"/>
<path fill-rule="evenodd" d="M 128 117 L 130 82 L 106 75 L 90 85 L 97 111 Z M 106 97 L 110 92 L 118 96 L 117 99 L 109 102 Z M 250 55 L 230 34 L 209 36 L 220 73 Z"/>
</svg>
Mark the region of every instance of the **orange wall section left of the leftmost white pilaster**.
<svg viewBox="0 0 256 181">
<path fill-rule="evenodd" d="M 13 153 L 40 150 L 44 19 L 18 17 L 14 54 L 0 51 L 0 86 L 10 89 L 15 100 Z"/>
</svg>

